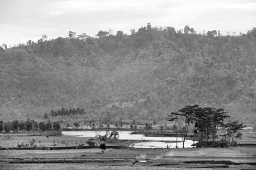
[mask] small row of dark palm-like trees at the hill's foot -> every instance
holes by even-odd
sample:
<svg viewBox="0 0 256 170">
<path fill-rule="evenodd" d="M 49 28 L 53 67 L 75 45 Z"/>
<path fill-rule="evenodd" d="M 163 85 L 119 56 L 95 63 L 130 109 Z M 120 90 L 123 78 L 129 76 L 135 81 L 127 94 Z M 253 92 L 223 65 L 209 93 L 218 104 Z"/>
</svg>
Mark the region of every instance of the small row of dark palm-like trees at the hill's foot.
<svg viewBox="0 0 256 170">
<path fill-rule="evenodd" d="M 70 115 L 82 115 L 84 114 L 84 109 L 76 108 L 76 109 L 65 109 L 61 108 L 61 110 L 51 110 L 51 117 L 63 117 L 63 116 L 70 116 Z M 46 113 L 47 114 L 47 113 Z"/>
</svg>

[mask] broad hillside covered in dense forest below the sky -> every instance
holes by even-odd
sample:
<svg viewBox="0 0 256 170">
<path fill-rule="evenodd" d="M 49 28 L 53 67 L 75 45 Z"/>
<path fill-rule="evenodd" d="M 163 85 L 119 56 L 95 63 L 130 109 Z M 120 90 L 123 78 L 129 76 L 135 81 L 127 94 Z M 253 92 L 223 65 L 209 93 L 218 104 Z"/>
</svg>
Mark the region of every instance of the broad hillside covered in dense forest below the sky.
<svg viewBox="0 0 256 170">
<path fill-rule="evenodd" d="M 148 24 L 131 35 L 99 31 L 92 38 L 70 31 L 68 38 L 43 36 L 0 48 L 4 120 L 77 107 L 88 117 L 164 119 L 196 103 L 225 107 L 253 122 L 255 97 L 255 28 L 221 36 Z"/>
</svg>

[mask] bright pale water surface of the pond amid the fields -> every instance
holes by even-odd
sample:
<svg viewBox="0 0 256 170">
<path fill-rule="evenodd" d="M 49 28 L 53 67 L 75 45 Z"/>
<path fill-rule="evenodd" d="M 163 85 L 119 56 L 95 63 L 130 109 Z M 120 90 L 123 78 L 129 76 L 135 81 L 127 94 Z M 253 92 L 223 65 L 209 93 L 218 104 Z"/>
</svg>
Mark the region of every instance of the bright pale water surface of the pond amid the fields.
<svg viewBox="0 0 256 170">
<path fill-rule="evenodd" d="M 142 140 L 143 142 L 134 143 L 134 148 L 175 148 L 176 138 L 175 137 L 154 137 L 154 136 L 143 136 L 143 134 L 131 134 L 131 131 L 118 131 L 119 139 L 124 140 Z M 63 131 L 65 136 L 79 136 L 92 138 L 96 135 L 104 135 L 106 131 Z M 178 138 L 178 147 L 182 148 L 182 138 Z M 193 141 L 186 140 L 185 147 L 191 148 Z"/>
</svg>

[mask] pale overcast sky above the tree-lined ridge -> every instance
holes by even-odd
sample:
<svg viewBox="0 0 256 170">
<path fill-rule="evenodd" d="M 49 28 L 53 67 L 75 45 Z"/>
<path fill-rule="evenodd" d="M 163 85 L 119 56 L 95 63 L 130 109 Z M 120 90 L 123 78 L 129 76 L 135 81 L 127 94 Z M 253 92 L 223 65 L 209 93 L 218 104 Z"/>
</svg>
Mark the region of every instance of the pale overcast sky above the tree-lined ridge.
<svg viewBox="0 0 256 170">
<path fill-rule="evenodd" d="M 0 0 L 0 45 L 37 41 L 42 34 L 66 37 L 68 31 L 130 34 L 148 22 L 239 34 L 256 27 L 256 0 Z"/>
</svg>

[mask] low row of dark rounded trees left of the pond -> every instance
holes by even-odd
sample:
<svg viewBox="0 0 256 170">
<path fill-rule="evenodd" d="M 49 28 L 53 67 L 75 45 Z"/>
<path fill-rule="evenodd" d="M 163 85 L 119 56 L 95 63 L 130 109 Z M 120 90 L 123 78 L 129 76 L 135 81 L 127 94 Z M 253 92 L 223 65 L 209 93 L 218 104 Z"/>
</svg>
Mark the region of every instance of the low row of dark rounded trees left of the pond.
<svg viewBox="0 0 256 170">
<path fill-rule="evenodd" d="M 37 131 L 59 131 L 61 125 L 59 122 L 36 122 L 35 120 L 26 120 L 26 122 L 19 122 L 19 120 L 13 120 L 12 122 L 0 121 L 0 132 L 37 132 Z"/>
</svg>

